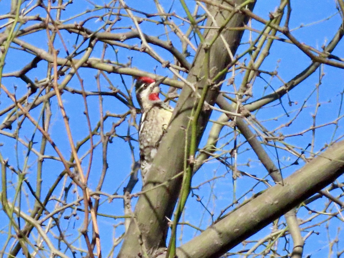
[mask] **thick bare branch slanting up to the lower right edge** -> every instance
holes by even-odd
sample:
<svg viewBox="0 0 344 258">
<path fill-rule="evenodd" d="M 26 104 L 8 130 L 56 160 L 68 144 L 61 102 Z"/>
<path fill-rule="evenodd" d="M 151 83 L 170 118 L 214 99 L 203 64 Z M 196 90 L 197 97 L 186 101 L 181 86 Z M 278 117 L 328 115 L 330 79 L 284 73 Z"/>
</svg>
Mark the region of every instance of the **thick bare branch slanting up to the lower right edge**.
<svg viewBox="0 0 344 258">
<path fill-rule="evenodd" d="M 219 257 L 316 194 L 344 172 L 344 141 L 333 144 L 303 168 L 223 217 L 177 249 L 179 258 Z M 305 180 L 307 178 L 307 180 Z M 267 212 L 269 211 L 269 212 Z M 159 256 L 162 258 L 163 256 Z"/>
</svg>

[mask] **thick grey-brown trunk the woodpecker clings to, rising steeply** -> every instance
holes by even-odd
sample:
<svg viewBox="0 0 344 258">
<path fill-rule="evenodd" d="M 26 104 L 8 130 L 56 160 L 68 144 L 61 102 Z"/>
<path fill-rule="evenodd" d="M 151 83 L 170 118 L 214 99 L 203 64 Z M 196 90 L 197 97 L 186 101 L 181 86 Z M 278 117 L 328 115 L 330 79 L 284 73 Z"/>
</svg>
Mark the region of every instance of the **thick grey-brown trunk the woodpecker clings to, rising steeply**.
<svg viewBox="0 0 344 258">
<path fill-rule="evenodd" d="M 230 7 L 225 1 L 214 0 Z M 243 0 L 234 1 L 241 4 Z M 254 4 L 248 8 L 253 9 Z M 209 7 L 209 11 L 216 20 L 217 25 L 221 26 L 230 12 L 219 10 L 216 7 Z M 226 28 L 240 27 L 247 23 L 247 17 L 236 13 L 232 20 L 227 23 Z M 214 26 L 211 19 L 207 20 L 206 26 Z M 210 42 L 216 36 L 218 30 L 207 30 L 203 34 L 205 42 Z M 232 53 L 240 43 L 243 30 L 226 30 L 222 34 L 230 47 Z M 209 65 L 211 77 L 224 69 L 230 62 L 229 54 L 224 51 L 225 45 L 220 37 L 217 38 L 211 47 L 209 64 L 205 64 L 204 46 L 200 44 L 190 69 L 187 81 L 194 84 L 201 94 L 207 80 L 202 79 L 204 75 L 204 65 Z M 224 75 L 225 76 L 225 75 Z M 224 79 L 219 78 L 215 83 Z M 214 104 L 217 97 L 218 88 L 208 91 L 206 101 Z M 168 230 L 168 220 L 171 218 L 176 200 L 180 191 L 181 177 L 172 179 L 173 176 L 183 171 L 184 149 L 185 149 L 185 129 L 190 120 L 191 111 L 195 104 L 195 93 L 193 90 L 184 86 L 178 103 L 172 115 L 167 133 L 163 137 L 158 153 L 153 161 L 152 168 L 147 178 L 147 184 L 143 187 L 144 194 L 141 194 L 135 207 L 135 218 L 132 219 L 125 240 L 118 255 L 119 258 L 137 257 L 138 254 L 147 251 L 151 254 L 154 250 L 165 246 L 166 234 Z M 198 119 L 198 141 L 203 135 L 207 125 L 211 110 L 204 110 Z M 190 134 L 189 134 L 190 135 Z M 172 180 L 171 180 L 172 179 Z M 166 182 L 165 185 L 157 187 L 157 184 Z M 148 191 L 150 190 L 150 191 Z"/>
</svg>

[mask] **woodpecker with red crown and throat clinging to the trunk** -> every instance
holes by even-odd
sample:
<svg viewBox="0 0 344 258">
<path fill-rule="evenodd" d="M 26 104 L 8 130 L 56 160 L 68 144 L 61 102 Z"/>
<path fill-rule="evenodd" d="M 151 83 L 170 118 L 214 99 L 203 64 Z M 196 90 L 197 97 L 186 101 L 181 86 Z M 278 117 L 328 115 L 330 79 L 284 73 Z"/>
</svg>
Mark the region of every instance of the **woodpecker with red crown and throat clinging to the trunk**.
<svg viewBox="0 0 344 258">
<path fill-rule="evenodd" d="M 146 184 L 161 138 L 169 124 L 173 108 L 159 98 L 160 83 L 150 77 L 139 77 L 135 84 L 136 98 L 141 108 L 139 147 L 142 185 Z"/>
</svg>

